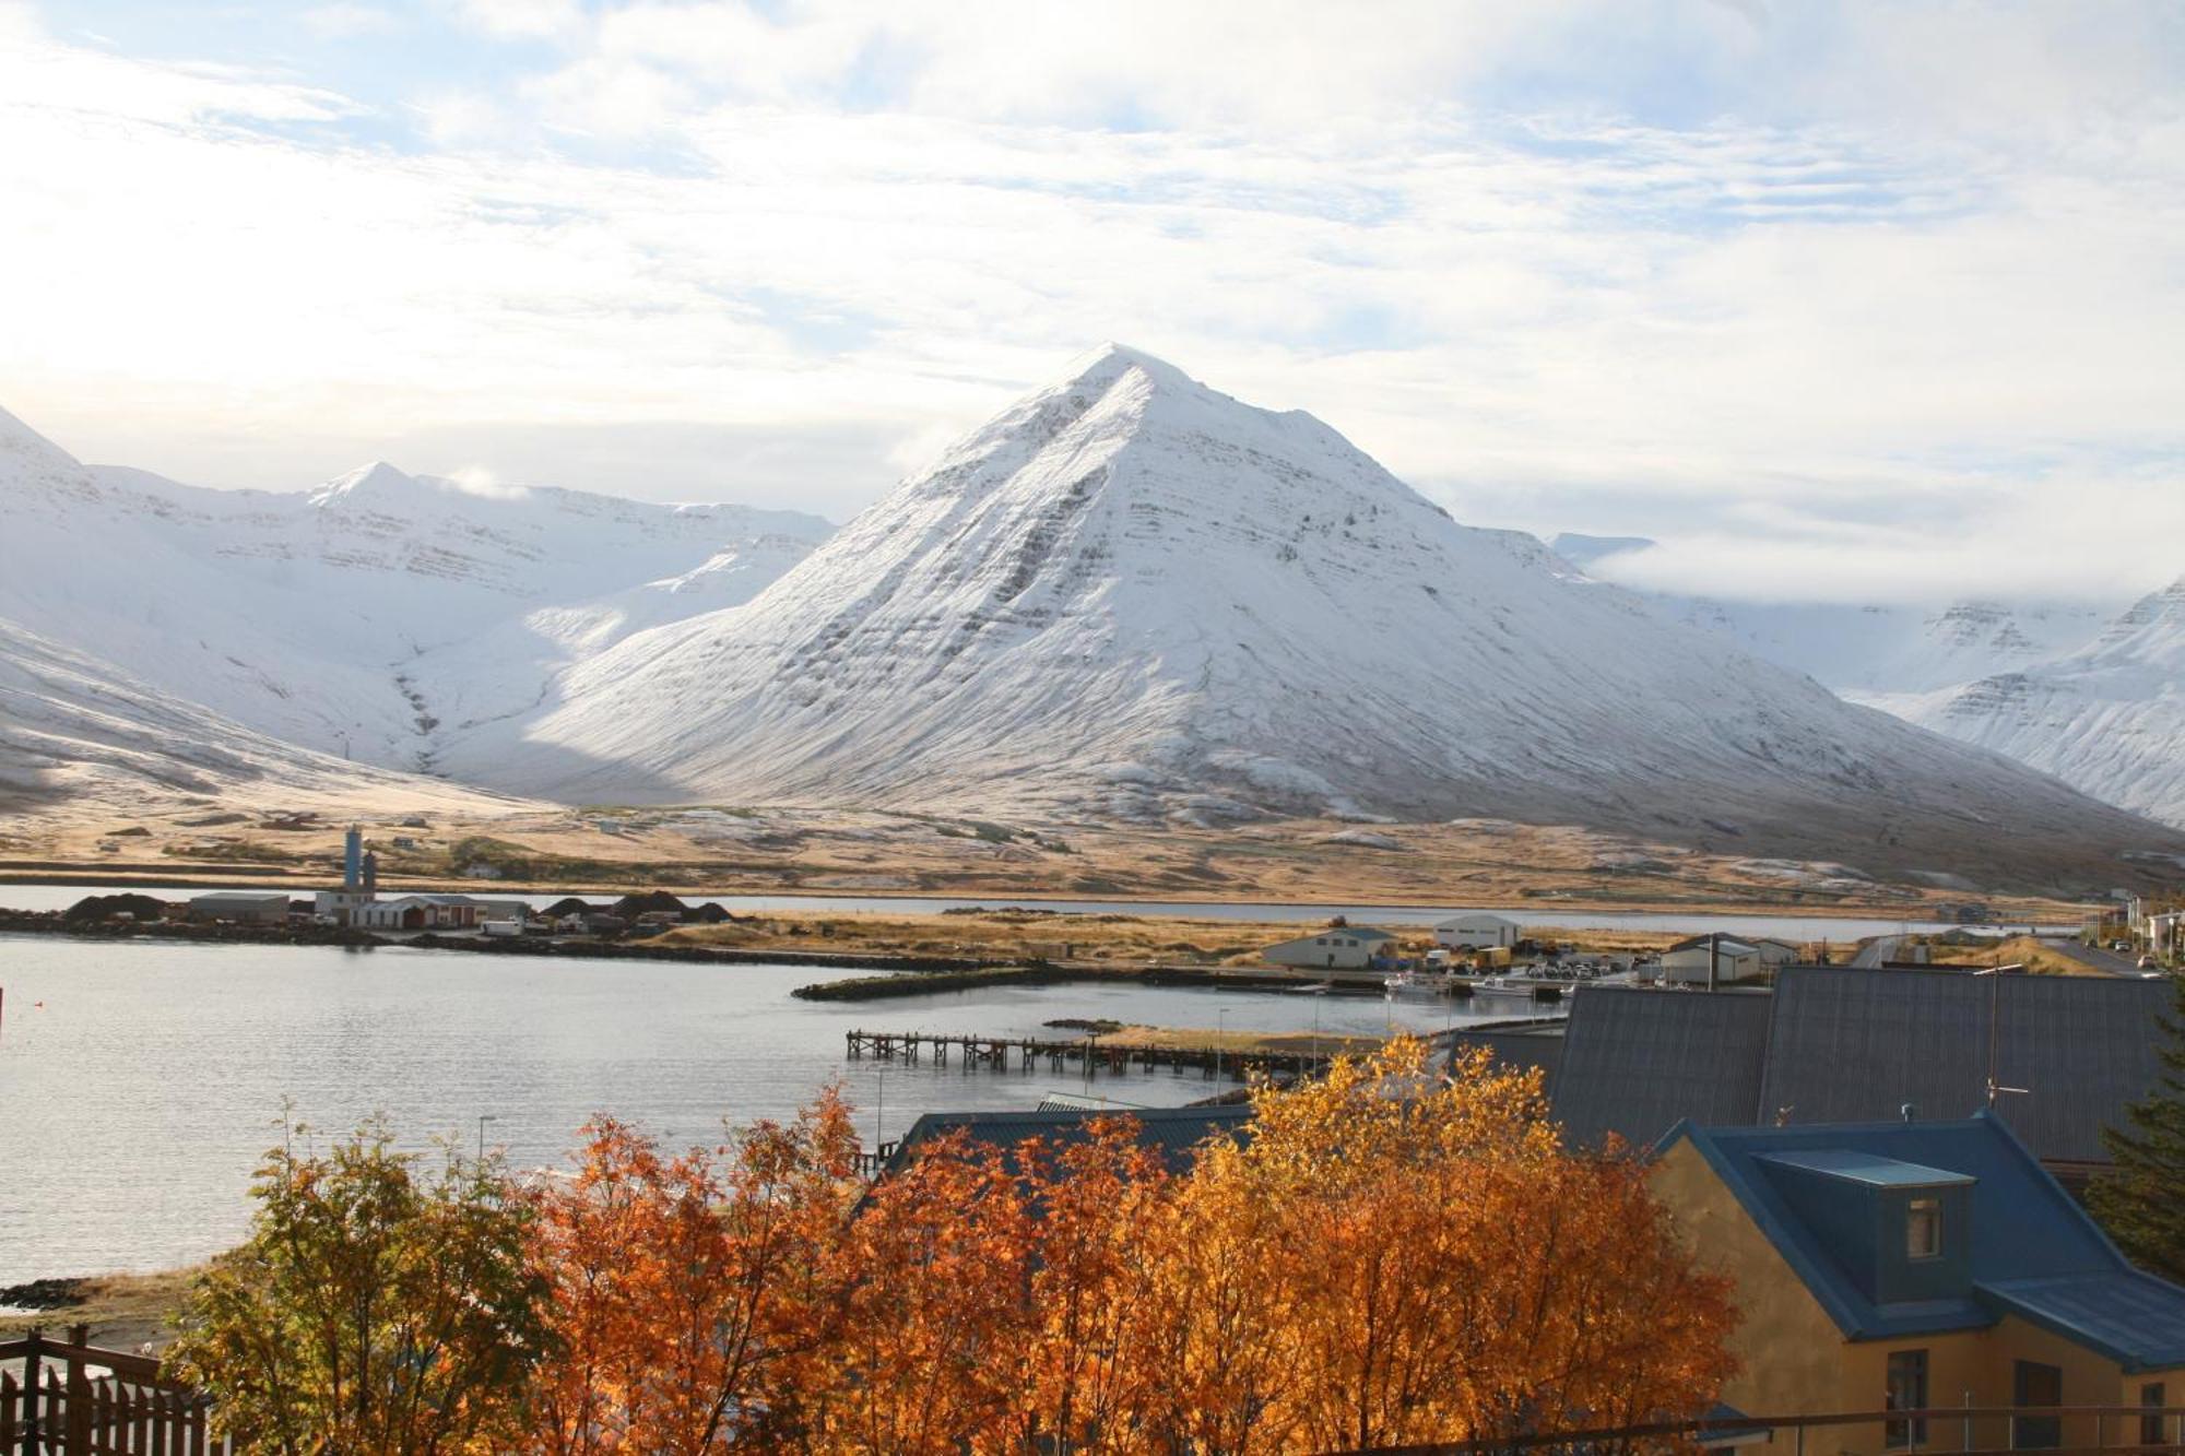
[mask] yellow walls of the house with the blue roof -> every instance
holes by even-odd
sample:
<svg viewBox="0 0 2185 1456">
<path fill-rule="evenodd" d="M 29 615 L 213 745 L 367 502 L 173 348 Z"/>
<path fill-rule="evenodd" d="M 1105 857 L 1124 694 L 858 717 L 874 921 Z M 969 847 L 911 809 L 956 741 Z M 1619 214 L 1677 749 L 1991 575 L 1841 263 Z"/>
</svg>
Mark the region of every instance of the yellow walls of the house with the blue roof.
<svg viewBox="0 0 2185 1456">
<path fill-rule="evenodd" d="M 1689 1141 L 1656 1159 L 1650 1181 L 1700 1266 L 1737 1281 L 1744 1318 L 1731 1349 L 1741 1371 L 1722 1388 L 1722 1399 L 1746 1414 L 1881 1410 L 1888 1404 L 1888 1358 L 1901 1349 L 1927 1351 L 1927 1401 L 1936 1408 L 2010 1406 L 2019 1360 L 2058 1366 L 2065 1406 L 2137 1406 L 2139 1386 L 2148 1382 L 2163 1382 L 2168 1401 L 2185 1406 L 2185 1369 L 2128 1375 L 2115 1360 L 2017 1316 L 1991 1329 L 1846 1340 Z M 1971 1434 L 1975 1447 L 2010 1445 L 2008 1419 L 1975 1421 Z M 2093 1417 L 2063 1419 L 2067 1447 L 2091 1447 L 2098 1434 Z M 2137 1428 L 2126 1432 L 2111 1421 L 2106 1436 L 2122 1445 L 2137 1436 Z M 1932 1421 L 1923 1449 L 1962 1445 L 1962 1421 Z M 1886 1428 L 1873 1423 L 1809 1430 L 1805 1449 L 1809 1456 L 1881 1456 L 1901 1447 L 1888 1447 Z"/>
</svg>

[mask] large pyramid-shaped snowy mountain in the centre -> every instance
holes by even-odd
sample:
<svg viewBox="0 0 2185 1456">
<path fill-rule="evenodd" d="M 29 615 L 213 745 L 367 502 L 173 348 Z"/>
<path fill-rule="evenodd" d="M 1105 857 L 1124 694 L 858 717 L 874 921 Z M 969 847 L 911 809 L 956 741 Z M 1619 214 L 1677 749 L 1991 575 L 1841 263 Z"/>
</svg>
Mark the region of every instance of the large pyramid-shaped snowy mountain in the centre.
<svg viewBox="0 0 2185 1456">
<path fill-rule="evenodd" d="M 444 767 L 564 800 L 1490 815 L 2047 883 L 2174 842 L 1121 348 Z"/>
</svg>

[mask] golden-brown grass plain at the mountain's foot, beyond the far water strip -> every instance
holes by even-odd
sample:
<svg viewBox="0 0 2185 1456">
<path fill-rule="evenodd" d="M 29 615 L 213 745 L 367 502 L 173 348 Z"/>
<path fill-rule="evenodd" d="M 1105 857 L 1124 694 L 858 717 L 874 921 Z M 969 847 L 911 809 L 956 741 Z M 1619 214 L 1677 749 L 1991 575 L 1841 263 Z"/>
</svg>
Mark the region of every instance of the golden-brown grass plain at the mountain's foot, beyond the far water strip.
<svg viewBox="0 0 2185 1456">
<path fill-rule="evenodd" d="M 470 800 L 459 800 L 470 802 Z M 310 809 L 308 829 L 280 826 Z M 935 813 L 717 807 L 439 805 L 424 826 L 395 805 L 138 798 L 72 800 L 0 815 L 0 857 L 24 879 L 149 877 L 306 890 L 326 885 L 350 818 L 380 855 L 380 883 L 548 892 L 948 894 L 1005 899 L 1283 901 L 1540 909 L 1741 909 L 1921 918 L 1958 899 L 1914 885 L 1809 883 L 1776 868 L 1632 835 L 1556 824 L 1337 820 L 1237 829 L 1014 824 Z M 411 842 L 395 848 L 395 837 Z M 2017 918 L 2076 918 L 2050 901 L 1997 899 Z"/>
</svg>

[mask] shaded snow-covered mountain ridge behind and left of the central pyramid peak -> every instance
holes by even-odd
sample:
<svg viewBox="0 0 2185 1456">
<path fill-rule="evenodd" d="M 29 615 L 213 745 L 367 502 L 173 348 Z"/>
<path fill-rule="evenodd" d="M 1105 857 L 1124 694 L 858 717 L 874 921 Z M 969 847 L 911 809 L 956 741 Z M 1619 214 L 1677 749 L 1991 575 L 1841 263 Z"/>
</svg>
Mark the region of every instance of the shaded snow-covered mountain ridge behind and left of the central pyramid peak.
<svg viewBox="0 0 2185 1456">
<path fill-rule="evenodd" d="M 588 651 L 747 601 L 830 529 L 387 463 L 297 494 L 197 490 L 85 468 L 0 411 L 0 619 L 391 767 L 533 708 Z"/>
</svg>

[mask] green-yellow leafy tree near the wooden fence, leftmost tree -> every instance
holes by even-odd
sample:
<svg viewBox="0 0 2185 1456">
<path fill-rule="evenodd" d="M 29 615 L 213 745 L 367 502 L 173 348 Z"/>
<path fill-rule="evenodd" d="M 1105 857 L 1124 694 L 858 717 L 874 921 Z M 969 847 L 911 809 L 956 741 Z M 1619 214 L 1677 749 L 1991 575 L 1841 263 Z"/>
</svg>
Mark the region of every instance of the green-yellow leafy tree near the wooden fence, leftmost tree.
<svg viewBox="0 0 2185 1456">
<path fill-rule="evenodd" d="M 190 1290 L 170 1369 L 238 1447 L 503 1452 L 546 1338 L 529 1207 L 494 1161 L 393 1150 L 380 1119 L 326 1156 L 267 1154 L 240 1248 Z"/>
</svg>

